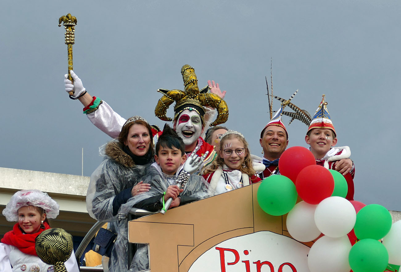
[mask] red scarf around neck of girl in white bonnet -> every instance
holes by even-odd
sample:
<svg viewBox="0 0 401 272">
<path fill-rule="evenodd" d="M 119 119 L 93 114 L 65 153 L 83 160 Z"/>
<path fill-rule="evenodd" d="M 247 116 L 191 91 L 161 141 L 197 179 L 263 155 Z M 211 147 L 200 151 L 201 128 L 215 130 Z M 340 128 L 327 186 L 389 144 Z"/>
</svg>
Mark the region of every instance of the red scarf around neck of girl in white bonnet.
<svg viewBox="0 0 401 272">
<path fill-rule="evenodd" d="M 4 234 L 1 242 L 11 246 L 16 246 L 21 252 L 26 254 L 38 256 L 35 250 L 35 238 L 38 237 L 38 235 L 44 230 L 48 230 L 50 228 L 49 224 L 46 222 L 43 222 L 43 225 L 45 225 L 45 228 L 40 228 L 36 233 L 24 234 L 20 229 L 19 224 L 16 223 L 12 230 Z"/>
</svg>

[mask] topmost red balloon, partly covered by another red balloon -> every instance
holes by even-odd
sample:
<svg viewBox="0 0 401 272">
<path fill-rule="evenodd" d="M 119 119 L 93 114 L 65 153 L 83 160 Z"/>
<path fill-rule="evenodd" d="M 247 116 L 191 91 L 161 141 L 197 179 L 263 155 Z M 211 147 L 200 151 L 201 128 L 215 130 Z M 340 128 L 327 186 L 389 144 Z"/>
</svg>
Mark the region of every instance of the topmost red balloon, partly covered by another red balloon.
<svg viewBox="0 0 401 272">
<path fill-rule="evenodd" d="M 312 152 L 302 146 L 287 148 L 280 156 L 278 168 L 280 174 L 286 176 L 295 183 L 299 172 L 306 166 L 316 165 Z"/>
</svg>

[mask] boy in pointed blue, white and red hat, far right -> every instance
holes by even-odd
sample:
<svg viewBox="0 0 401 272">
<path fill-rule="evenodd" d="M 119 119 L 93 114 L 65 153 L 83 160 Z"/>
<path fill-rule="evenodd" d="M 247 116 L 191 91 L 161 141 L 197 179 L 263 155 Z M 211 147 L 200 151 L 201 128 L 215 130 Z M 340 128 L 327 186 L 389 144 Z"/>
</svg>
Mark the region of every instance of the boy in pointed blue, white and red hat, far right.
<svg viewBox="0 0 401 272">
<path fill-rule="evenodd" d="M 351 150 L 348 146 L 334 147 L 337 143 L 336 131 L 330 119 L 327 110 L 327 102 L 324 101 L 325 95 L 312 122 L 310 122 L 308 132 L 305 136 L 305 142 L 310 145 L 310 151 L 315 156 L 316 164 L 324 166 L 327 169 L 336 170 L 336 163 L 341 159 L 349 158 Z M 354 174 L 355 168 L 352 164 L 350 172 L 344 175 L 348 184 L 348 193 L 346 199 L 354 200 Z"/>
</svg>

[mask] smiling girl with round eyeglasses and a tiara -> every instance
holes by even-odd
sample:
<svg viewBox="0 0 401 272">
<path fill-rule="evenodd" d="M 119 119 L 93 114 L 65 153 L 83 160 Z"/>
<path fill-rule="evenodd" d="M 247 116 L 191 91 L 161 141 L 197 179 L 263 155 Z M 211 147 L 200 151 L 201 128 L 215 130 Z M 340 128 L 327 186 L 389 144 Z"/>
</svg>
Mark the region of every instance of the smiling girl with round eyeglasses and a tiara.
<svg viewBox="0 0 401 272">
<path fill-rule="evenodd" d="M 252 163 L 244 136 L 228 130 L 221 138 L 217 158 L 203 170 L 203 176 L 210 189 L 221 194 L 261 181 L 256 171 L 264 168 L 262 163 Z"/>
</svg>

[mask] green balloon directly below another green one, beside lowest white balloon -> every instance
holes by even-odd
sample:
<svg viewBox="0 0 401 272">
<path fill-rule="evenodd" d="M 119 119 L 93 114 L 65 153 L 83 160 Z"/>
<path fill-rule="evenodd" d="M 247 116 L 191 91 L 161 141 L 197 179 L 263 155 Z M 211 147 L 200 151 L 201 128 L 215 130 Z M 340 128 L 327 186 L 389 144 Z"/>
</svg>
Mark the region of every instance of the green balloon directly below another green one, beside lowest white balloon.
<svg viewBox="0 0 401 272">
<path fill-rule="evenodd" d="M 363 239 L 352 246 L 348 261 L 354 272 L 383 272 L 389 262 L 389 254 L 381 242 Z"/>
</svg>

